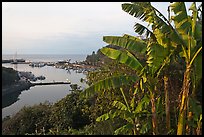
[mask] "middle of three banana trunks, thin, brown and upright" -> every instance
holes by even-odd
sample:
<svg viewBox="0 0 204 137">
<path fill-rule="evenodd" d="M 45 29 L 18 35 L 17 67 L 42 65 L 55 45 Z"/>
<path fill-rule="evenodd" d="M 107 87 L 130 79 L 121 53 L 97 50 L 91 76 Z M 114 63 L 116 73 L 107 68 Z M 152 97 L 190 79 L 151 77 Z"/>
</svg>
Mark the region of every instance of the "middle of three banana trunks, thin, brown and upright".
<svg viewBox="0 0 204 137">
<path fill-rule="evenodd" d="M 165 92 L 165 111 L 166 111 L 166 130 L 170 131 L 170 103 L 169 103 L 169 90 L 168 90 L 168 77 L 164 75 L 164 92 Z"/>
</svg>

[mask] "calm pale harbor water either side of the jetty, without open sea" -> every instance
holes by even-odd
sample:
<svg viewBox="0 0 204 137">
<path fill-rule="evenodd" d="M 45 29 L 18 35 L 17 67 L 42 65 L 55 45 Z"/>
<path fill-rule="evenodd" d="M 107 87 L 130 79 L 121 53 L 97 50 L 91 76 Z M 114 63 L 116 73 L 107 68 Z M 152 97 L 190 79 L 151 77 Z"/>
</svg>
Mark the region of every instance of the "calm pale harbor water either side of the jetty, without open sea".
<svg viewBox="0 0 204 137">
<path fill-rule="evenodd" d="M 53 82 L 54 81 L 66 81 L 69 79 L 71 83 L 78 84 L 82 88 L 86 88 L 87 85 L 85 83 L 81 83 L 80 79 L 85 78 L 85 74 L 76 73 L 73 70 L 67 71 L 65 69 L 55 68 L 53 66 L 44 66 L 41 68 L 31 67 L 28 64 L 18 64 L 15 67 L 14 64 L 4 63 L 2 64 L 4 67 L 17 68 L 18 71 L 30 71 L 35 76 L 43 75 L 46 77 L 43 81 L 36 82 Z M 22 91 L 18 96 L 18 100 L 11 104 L 8 107 L 2 109 L 2 118 L 7 115 L 14 115 L 17 113 L 23 106 L 39 104 L 40 102 L 49 101 L 51 103 L 55 103 L 65 97 L 70 93 L 70 85 L 44 85 L 44 86 L 35 86 L 31 87 L 29 90 Z M 6 98 L 2 101 L 3 103 L 8 103 L 9 100 L 13 100 L 12 98 Z M 5 102 L 6 101 L 6 102 Z M 2 104 L 3 104 L 2 103 Z"/>
</svg>

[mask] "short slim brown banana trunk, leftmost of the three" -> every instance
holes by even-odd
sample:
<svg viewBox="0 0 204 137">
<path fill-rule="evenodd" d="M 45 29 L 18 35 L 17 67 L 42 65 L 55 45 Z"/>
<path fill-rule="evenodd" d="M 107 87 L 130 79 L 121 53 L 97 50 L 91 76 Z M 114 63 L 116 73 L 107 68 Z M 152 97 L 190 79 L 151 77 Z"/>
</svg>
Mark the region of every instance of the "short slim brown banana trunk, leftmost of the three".
<svg viewBox="0 0 204 137">
<path fill-rule="evenodd" d="M 151 104 L 152 104 L 152 128 L 153 128 L 153 135 L 158 135 L 158 126 L 157 126 L 157 116 L 156 116 L 156 105 L 154 99 L 154 93 L 150 93 L 151 97 Z"/>
</svg>

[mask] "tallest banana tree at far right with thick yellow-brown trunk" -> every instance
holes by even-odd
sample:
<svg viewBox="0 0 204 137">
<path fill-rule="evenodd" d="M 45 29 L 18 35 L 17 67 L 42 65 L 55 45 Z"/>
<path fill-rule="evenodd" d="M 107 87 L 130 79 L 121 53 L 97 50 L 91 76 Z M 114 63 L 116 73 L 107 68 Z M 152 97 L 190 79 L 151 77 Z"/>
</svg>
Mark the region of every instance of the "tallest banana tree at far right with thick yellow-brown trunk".
<svg viewBox="0 0 204 137">
<path fill-rule="evenodd" d="M 202 78 L 201 50 L 202 50 L 202 4 L 197 9 L 195 2 L 189 10 L 192 10 L 192 16 L 187 15 L 184 2 L 173 3 L 170 8 L 175 16 L 171 17 L 174 21 L 172 26 L 157 9 L 151 6 L 150 3 L 135 2 L 132 4 L 123 4 L 123 10 L 143 21 L 149 22 L 152 25 L 153 33 L 142 26 L 135 24 L 135 31 L 157 39 L 157 41 L 167 47 L 174 47 L 185 58 L 186 71 L 184 73 L 182 99 L 180 105 L 180 113 L 178 120 L 178 134 L 182 134 L 184 128 L 184 119 L 187 109 L 187 100 L 190 88 L 190 77 L 193 79 L 192 95 L 195 96 L 198 83 Z M 201 16 L 198 16 L 198 12 Z M 152 35 L 154 34 L 154 35 Z M 171 42 L 169 42 L 171 41 Z M 171 50 L 171 49 L 170 49 Z M 174 53 L 175 54 L 175 53 Z M 191 73 L 192 71 L 192 73 Z"/>
</svg>

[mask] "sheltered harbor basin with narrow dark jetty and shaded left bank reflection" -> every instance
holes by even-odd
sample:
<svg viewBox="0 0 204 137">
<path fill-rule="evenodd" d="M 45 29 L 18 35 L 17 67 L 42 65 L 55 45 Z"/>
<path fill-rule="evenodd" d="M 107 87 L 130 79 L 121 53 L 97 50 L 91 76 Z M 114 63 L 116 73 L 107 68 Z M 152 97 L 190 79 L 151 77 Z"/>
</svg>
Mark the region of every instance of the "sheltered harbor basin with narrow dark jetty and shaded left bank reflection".
<svg viewBox="0 0 204 137">
<path fill-rule="evenodd" d="M 38 60 L 39 59 L 34 59 L 29 61 L 29 63 L 38 62 Z M 25 62 L 28 62 L 28 60 Z M 45 59 L 42 61 L 40 60 L 39 62 L 46 64 L 49 64 L 50 62 L 50 64 L 55 64 L 58 61 L 57 59 L 53 61 Z M 87 87 L 86 83 L 81 82 L 81 78 L 86 78 L 85 74 L 76 73 L 76 70 L 73 69 L 61 69 L 60 66 L 64 65 L 65 63 L 58 64 L 59 67 L 54 67 L 52 65 L 32 67 L 29 66 L 29 63 L 2 63 L 2 66 L 4 67 L 13 69 L 17 68 L 18 72 L 24 72 L 24 74 L 28 76 L 27 82 L 26 77 L 24 77 L 20 83 L 16 83 L 12 87 L 8 86 L 2 89 L 5 91 L 5 94 L 2 95 L 4 96 L 2 118 L 6 115 L 17 113 L 17 111 L 25 105 L 34 105 L 44 101 L 55 103 L 65 97 L 67 94 L 71 93 L 71 86 L 74 84 L 80 86 L 81 89 Z M 15 66 L 17 67 L 15 68 Z M 44 76 L 45 79 L 37 79 L 36 81 L 33 81 L 35 77 L 40 76 Z M 31 86 L 31 83 L 39 84 Z"/>
</svg>

